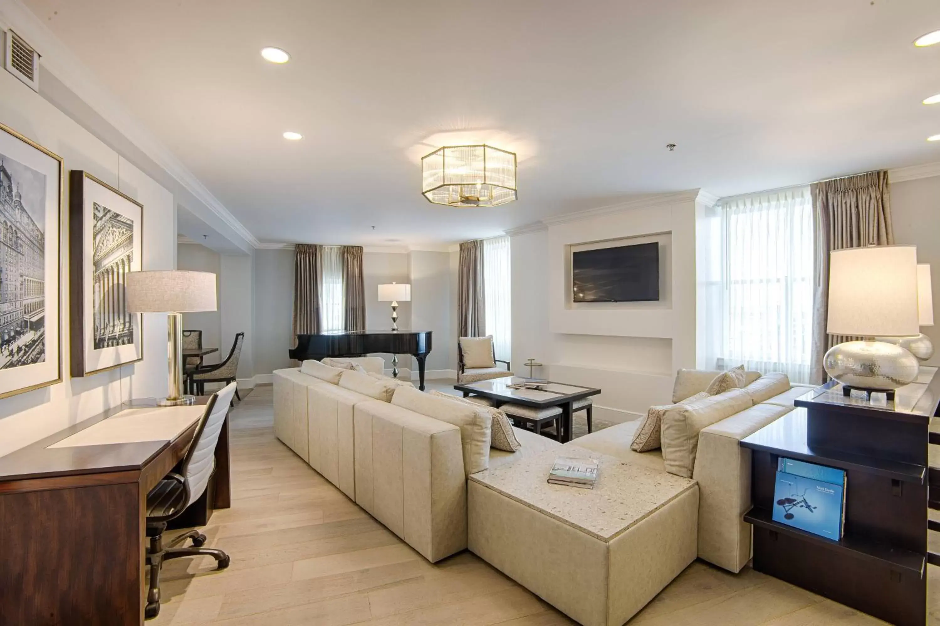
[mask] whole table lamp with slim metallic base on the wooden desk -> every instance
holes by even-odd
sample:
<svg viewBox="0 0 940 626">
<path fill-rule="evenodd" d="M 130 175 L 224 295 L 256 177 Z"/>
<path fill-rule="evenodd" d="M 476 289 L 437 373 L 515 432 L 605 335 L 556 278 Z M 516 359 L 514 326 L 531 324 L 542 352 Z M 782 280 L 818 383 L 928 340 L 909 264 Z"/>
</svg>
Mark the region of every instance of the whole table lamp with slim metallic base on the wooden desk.
<svg viewBox="0 0 940 626">
<path fill-rule="evenodd" d="M 180 269 L 129 272 L 126 290 L 128 312 L 168 313 L 169 393 L 157 404 L 192 405 L 196 398 L 182 393 L 182 313 L 216 310 L 215 274 Z"/>
</svg>

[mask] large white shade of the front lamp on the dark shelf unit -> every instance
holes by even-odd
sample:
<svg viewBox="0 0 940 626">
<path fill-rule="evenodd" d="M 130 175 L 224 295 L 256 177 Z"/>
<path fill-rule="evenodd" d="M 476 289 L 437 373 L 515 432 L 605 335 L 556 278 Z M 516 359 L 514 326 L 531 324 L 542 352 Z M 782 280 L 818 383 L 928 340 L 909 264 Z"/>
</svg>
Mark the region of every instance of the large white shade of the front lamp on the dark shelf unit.
<svg viewBox="0 0 940 626">
<path fill-rule="evenodd" d="M 906 336 L 917 325 L 917 247 L 873 246 L 829 255 L 826 332 Z"/>
</svg>

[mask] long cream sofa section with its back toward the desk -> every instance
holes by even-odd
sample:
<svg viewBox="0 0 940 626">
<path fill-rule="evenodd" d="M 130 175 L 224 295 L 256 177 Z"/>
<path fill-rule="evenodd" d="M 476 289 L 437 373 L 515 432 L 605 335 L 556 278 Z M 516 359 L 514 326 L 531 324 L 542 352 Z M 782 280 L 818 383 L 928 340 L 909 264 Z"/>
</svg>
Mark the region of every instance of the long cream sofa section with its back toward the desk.
<svg viewBox="0 0 940 626">
<path fill-rule="evenodd" d="M 514 429 L 521 450 L 491 450 L 487 436 L 468 456 L 468 437 L 451 422 L 479 420 L 481 407 L 381 377 L 375 363 L 368 372 L 376 377 L 316 361 L 274 371 L 274 434 L 431 562 L 466 548 L 467 467 L 561 447 Z"/>
</svg>

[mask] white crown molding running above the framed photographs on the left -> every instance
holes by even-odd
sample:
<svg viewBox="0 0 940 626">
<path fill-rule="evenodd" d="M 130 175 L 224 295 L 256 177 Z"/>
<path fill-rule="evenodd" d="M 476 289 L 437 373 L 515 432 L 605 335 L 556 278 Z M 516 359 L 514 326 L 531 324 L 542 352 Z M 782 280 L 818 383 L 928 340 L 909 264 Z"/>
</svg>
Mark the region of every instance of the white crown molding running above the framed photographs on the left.
<svg viewBox="0 0 940 626">
<path fill-rule="evenodd" d="M 0 21 L 8 24 L 8 27 L 15 29 L 26 39 L 41 54 L 40 64 L 54 74 L 75 96 L 107 120 L 157 165 L 164 168 L 167 174 L 179 181 L 184 189 L 196 196 L 196 199 L 252 247 L 258 247 L 258 239 L 243 223 L 238 221 L 196 175 L 98 80 L 35 13 L 26 8 L 20 0 L 3 0 L 0 5 Z"/>
</svg>

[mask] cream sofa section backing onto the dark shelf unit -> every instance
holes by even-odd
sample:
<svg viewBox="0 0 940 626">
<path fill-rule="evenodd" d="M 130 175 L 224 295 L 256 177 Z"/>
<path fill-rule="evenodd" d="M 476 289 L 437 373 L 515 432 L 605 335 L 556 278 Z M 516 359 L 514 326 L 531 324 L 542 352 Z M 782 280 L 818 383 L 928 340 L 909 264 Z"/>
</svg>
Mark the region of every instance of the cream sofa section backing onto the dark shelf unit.
<svg viewBox="0 0 940 626">
<path fill-rule="evenodd" d="M 673 387 L 673 403 L 704 391 L 717 374 L 720 372 L 680 370 Z M 744 437 L 789 413 L 793 410 L 793 401 L 812 389 L 791 385 L 783 374 L 747 373 L 745 383 L 744 390 L 731 389 L 712 397 L 729 407 L 729 414 L 713 409 L 717 411 L 713 414 L 717 419 L 705 418 L 711 423 L 697 435 L 691 476 L 698 486 L 698 557 L 734 573 L 740 572 L 750 559 L 751 548 L 751 526 L 744 522 L 744 513 L 751 507 L 751 452 L 738 444 Z M 744 393 L 747 401 L 741 403 Z M 733 411 L 733 407 L 742 405 L 743 410 Z M 566 445 L 666 472 L 662 450 L 631 450 L 641 422 L 636 420 L 605 428 Z"/>
</svg>

